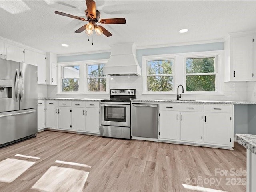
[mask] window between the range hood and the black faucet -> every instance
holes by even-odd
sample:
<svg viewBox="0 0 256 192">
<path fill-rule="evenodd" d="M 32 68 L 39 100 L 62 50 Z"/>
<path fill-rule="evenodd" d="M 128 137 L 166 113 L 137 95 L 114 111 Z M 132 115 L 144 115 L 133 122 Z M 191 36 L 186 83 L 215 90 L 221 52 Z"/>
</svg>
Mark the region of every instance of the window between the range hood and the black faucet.
<svg viewBox="0 0 256 192">
<path fill-rule="evenodd" d="M 148 60 L 146 63 L 146 91 L 173 91 L 173 59 Z"/>
</svg>

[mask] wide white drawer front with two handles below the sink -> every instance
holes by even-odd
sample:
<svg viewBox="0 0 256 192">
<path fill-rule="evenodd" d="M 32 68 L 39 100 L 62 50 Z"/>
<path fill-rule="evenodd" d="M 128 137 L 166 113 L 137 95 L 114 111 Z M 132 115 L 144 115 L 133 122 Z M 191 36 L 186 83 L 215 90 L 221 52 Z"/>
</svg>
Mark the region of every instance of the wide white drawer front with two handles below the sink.
<svg viewBox="0 0 256 192">
<path fill-rule="evenodd" d="M 172 104 L 172 103 L 160 104 L 160 110 L 202 112 L 204 110 L 204 105 L 202 105 L 202 104 Z"/>
</svg>

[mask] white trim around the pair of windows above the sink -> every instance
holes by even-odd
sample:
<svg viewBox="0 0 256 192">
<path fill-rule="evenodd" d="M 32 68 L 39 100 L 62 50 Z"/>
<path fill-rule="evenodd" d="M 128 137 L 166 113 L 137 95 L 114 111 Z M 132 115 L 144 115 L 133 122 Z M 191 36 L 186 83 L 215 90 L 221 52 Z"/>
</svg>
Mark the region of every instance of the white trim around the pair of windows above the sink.
<svg viewBox="0 0 256 192">
<path fill-rule="evenodd" d="M 178 54 L 162 54 L 142 56 L 142 94 L 177 94 L 178 85 L 182 84 L 184 90 L 186 88 L 186 58 L 198 58 L 214 56 L 217 60 L 216 71 L 216 91 L 214 92 L 186 92 L 184 95 L 223 95 L 224 94 L 224 50 L 204 51 L 204 52 L 189 52 Z M 148 60 L 166 60 L 174 59 L 173 75 L 174 75 L 174 91 L 173 92 L 148 92 L 147 91 L 147 61 Z"/>
</svg>

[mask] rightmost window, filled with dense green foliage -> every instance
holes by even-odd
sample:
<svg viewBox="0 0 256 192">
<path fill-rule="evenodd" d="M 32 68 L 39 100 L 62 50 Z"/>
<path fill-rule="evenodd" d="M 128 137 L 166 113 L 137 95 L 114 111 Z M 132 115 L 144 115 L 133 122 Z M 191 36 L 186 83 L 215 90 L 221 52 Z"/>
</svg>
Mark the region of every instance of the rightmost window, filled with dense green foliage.
<svg viewBox="0 0 256 192">
<path fill-rule="evenodd" d="M 186 91 L 216 91 L 216 57 L 186 58 Z"/>
</svg>

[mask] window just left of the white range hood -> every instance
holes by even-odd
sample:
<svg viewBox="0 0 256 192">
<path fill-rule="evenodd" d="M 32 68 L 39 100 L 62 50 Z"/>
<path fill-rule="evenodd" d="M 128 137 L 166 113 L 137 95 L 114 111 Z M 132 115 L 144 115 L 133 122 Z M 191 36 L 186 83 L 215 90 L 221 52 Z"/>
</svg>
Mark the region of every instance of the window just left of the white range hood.
<svg viewBox="0 0 256 192">
<path fill-rule="evenodd" d="M 87 91 L 104 91 L 106 92 L 106 76 L 103 74 L 105 64 L 88 64 L 87 65 Z"/>
</svg>

